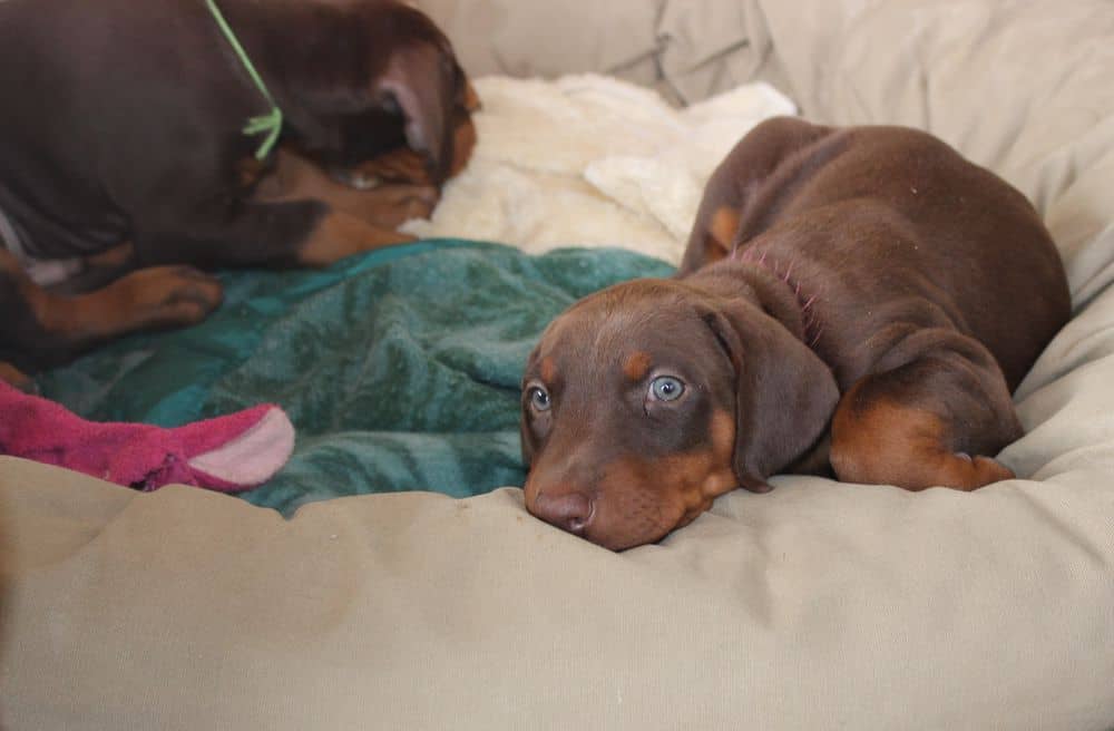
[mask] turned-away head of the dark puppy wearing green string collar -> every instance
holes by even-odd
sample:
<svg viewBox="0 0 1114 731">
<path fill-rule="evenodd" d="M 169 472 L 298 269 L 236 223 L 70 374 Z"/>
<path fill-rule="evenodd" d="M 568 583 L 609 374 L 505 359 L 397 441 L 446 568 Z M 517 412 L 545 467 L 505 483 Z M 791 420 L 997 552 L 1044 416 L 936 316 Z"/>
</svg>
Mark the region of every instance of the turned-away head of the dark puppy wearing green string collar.
<svg viewBox="0 0 1114 731">
<path fill-rule="evenodd" d="M 333 0 L 316 12 L 321 48 L 307 53 L 292 119 L 304 152 L 350 169 L 409 147 L 437 184 L 462 167 L 479 98 L 433 21 L 391 0 Z"/>
</svg>

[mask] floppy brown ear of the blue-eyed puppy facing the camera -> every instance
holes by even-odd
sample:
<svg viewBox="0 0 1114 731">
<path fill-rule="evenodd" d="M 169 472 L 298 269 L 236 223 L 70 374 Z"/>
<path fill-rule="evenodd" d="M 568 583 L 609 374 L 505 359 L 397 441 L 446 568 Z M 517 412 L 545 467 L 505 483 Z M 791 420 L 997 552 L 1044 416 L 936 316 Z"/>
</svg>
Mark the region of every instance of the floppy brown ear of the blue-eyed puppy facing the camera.
<svg viewBox="0 0 1114 731">
<path fill-rule="evenodd" d="M 735 477 L 766 493 L 766 479 L 823 435 L 839 388 L 828 366 L 758 305 L 734 301 L 702 318 L 735 369 Z"/>
</svg>

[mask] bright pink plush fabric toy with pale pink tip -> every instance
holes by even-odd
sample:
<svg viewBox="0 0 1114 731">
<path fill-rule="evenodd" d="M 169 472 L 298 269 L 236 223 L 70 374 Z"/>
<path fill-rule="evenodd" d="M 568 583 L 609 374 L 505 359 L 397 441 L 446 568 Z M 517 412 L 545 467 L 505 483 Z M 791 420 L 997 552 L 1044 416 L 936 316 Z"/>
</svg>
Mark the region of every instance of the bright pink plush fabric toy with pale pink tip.
<svg viewBox="0 0 1114 731">
<path fill-rule="evenodd" d="M 169 483 L 235 493 L 262 485 L 294 449 L 294 427 L 276 406 L 166 429 L 86 421 L 0 380 L 0 455 L 67 467 L 154 490 Z"/>
</svg>

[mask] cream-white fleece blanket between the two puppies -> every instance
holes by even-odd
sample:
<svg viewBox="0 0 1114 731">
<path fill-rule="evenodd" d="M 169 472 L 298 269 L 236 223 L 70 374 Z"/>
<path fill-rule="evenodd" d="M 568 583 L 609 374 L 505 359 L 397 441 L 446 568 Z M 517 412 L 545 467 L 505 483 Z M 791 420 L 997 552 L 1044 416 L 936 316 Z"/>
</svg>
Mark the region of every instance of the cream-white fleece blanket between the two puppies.
<svg viewBox="0 0 1114 731">
<path fill-rule="evenodd" d="M 603 76 L 487 77 L 479 143 L 431 221 L 404 230 L 531 253 L 620 246 L 676 264 L 704 182 L 746 131 L 795 113 L 765 84 L 676 109 L 655 91 Z"/>
</svg>

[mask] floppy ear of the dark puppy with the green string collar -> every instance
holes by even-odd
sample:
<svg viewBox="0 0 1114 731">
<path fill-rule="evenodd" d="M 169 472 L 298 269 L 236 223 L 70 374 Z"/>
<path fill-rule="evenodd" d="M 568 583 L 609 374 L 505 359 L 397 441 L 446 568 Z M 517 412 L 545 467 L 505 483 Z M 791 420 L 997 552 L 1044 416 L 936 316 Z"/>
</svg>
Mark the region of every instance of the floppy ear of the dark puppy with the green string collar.
<svg viewBox="0 0 1114 731">
<path fill-rule="evenodd" d="M 452 156 L 449 125 L 457 95 L 456 75 L 443 68 L 441 50 L 431 43 L 402 46 L 374 84 L 377 96 L 402 114 L 407 145 L 426 157 L 434 177 L 443 177 Z"/>
</svg>

